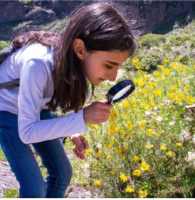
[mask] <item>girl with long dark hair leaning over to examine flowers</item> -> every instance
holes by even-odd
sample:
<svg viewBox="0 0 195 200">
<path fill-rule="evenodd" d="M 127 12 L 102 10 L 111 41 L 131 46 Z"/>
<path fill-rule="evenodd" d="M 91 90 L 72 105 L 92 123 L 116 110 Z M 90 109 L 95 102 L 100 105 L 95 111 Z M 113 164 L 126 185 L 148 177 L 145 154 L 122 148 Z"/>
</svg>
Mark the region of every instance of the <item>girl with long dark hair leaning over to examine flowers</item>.
<svg viewBox="0 0 195 200">
<path fill-rule="evenodd" d="M 92 88 L 114 81 L 136 43 L 124 18 L 112 6 L 83 7 L 62 32 L 30 32 L 13 40 L 16 51 L 0 67 L 1 82 L 20 78 L 20 87 L 0 91 L 0 144 L 20 184 L 20 197 L 64 197 L 72 168 L 61 137 L 71 136 L 75 154 L 88 147 L 80 132 L 107 121 L 106 100 L 83 108 Z M 51 112 L 60 107 L 56 118 Z M 29 144 L 47 168 L 46 183 Z"/>
</svg>

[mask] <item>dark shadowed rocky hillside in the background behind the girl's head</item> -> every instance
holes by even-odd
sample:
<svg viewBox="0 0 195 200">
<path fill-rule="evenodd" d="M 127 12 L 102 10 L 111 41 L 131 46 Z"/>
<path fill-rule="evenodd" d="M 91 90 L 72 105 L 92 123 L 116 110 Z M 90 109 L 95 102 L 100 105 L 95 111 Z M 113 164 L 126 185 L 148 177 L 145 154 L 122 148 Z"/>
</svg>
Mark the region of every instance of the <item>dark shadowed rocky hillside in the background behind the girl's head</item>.
<svg viewBox="0 0 195 200">
<path fill-rule="evenodd" d="M 61 31 L 69 16 L 78 8 L 99 2 L 91 1 L 0 1 L 0 40 L 10 40 L 29 30 Z M 135 36 L 173 29 L 175 22 L 186 26 L 194 15 L 193 1 L 101 1 L 109 2 L 126 17 Z"/>
</svg>

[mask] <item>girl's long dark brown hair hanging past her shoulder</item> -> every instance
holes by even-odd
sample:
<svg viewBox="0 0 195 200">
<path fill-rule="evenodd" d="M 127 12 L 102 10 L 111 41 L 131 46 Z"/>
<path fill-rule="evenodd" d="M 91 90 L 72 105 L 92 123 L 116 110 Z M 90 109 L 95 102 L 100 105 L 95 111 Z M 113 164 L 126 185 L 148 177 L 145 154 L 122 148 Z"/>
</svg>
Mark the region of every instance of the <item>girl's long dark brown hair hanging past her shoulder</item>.
<svg viewBox="0 0 195 200">
<path fill-rule="evenodd" d="M 59 105 L 63 112 L 77 112 L 88 95 L 87 80 L 72 46 L 75 38 L 83 40 L 88 51 L 129 51 L 129 56 L 136 51 L 130 27 L 115 8 L 95 3 L 79 9 L 58 40 L 54 93 L 47 104 L 51 110 Z"/>
</svg>

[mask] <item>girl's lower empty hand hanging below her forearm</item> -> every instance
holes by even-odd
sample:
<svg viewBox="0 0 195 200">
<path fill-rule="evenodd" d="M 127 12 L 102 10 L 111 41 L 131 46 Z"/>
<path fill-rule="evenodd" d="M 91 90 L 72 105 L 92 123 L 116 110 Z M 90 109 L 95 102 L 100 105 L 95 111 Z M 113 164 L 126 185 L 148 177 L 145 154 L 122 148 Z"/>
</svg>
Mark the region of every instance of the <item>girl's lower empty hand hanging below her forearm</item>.
<svg viewBox="0 0 195 200">
<path fill-rule="evenodd" d="M 85 150 L 88 149 L 88 142 L 81 134 L 74 134 L 70 136 L 70 140 L 75 146 L 73 149 L 74 154 L 80 158 L 85 158 Z"/>
</svg>

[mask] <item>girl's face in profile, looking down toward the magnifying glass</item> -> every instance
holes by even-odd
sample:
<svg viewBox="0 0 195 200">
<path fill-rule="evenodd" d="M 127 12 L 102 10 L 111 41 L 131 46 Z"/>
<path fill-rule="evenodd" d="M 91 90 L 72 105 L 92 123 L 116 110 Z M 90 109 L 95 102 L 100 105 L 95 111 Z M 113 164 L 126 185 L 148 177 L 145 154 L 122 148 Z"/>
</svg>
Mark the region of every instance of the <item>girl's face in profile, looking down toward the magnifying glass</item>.
<svg viewBox="0 0 195 200">
<path fill-rule="evenodd" d="M 102 81 L 114 81 L 119 66 L 129 57 L 129 51 L 85 51 L 82 67 L 86 78 L 94 86 Z"/>
</svg>

